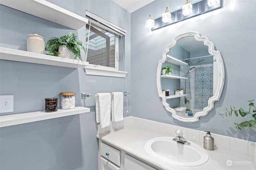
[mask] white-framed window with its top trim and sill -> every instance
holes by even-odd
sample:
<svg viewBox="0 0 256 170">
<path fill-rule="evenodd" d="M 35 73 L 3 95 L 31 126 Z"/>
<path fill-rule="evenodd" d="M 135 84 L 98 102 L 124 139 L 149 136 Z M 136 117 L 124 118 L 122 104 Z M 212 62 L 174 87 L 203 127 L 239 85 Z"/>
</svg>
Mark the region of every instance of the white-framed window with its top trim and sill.
<svg viewBox="0 0 256 170">
<path fill-rule="evenodd" d="M 86 74 L 125 77 L 126 72 L 118 68 L 118 54 L 119 41 L 126 30 L 88 11 L 86 18 L 86 61 L 90 64 Z"/>
</svg>

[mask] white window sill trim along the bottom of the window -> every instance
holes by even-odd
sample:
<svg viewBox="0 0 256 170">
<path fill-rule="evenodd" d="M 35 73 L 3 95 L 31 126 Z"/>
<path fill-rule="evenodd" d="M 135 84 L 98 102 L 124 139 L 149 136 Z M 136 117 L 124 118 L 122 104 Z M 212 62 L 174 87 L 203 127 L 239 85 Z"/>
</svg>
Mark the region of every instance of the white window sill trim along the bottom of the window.
<svg viewBox="0 0 256 170">
<path fill-rule="evenodd" d="M 105 66 L 97 66 L 94 64 L 90 64 L 89 66 L 84 67 L 87 75 L 94 76 L 110 76 L 110 77 L 126 77 L 126 71 L 119 71 L 115 68 L 105 67 Z"/>
</svg>

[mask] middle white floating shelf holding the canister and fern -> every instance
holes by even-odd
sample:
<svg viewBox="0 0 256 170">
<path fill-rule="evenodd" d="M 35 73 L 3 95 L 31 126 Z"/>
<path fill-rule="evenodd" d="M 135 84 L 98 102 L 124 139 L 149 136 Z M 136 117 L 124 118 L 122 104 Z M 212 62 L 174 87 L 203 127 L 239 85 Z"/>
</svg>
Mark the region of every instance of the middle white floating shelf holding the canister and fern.
<svg viewBox="0 0 256 170">
<path fill-rule="evenodd" d="M 51 66 L 62 66 L 69 68 L 84 68 L 89 64 L 86 61 L 66 59 L 62 57 L 32 53 L 28 51 L 10 49 L 5 47 L 0 47 L 0 59 L 20 61 L 25 63 L 45 64 Z"/>
</svg>

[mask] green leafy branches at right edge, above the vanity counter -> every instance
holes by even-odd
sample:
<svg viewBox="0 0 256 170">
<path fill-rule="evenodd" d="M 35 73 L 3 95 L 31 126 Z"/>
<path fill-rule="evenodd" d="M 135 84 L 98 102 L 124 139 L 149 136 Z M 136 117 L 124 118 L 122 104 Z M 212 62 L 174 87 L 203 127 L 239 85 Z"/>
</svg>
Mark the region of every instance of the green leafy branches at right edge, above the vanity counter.
<svg viewBox="0 0 256 170">
<path fill-rule="evenodd" d="M 243 121 L 241 123 L 234 123 L 234 124 L 235 124 L 235 127 L 240 130 L 243 129 L 244 127 L 256 128 L 256 107 L 254 106 L 253 101 L 254 100 L 247 101 L 249 102 L 249 111 L 244 111 L 242 107 L 240 107 L 240 109 L 237 110 L 235 107 L 232 108 L 232 106 L 230 106 L 230 110 L 226 108 L 226 112 L 222 112 L 218 114 L 221 115 L 222 117 L 223 115 L 225 115 L 226 117 L 232 116 L 232 113 L 234 113 L 236 117 L 238 117 L 238 115 L 240 115 L 241 117 L 245 117 L 246 115 L 252 115 L 253 119 L 251 119 L 250 121 Z M 251 113 L 251 107 L 254 107 L 252 109 L 252 113 Z"/>
</svg>

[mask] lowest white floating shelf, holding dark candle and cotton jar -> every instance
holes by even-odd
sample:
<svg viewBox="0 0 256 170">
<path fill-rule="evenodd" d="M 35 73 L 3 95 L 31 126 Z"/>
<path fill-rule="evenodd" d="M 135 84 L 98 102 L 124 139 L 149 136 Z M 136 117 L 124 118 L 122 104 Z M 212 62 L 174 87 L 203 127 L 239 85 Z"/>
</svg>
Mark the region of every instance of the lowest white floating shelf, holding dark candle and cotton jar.
<svg viewBox="0 0 256 170">
<path fill-rule="evenodd" d="M 53 118 L 64 117 L 69 115 L 77 115 L 77 114 L 87 113 L 87 112 L 90 112 L 90 108 L 78 106 L 75 109 L 67 109 L 67 110 L 58 109 L 58 111 L 54 111 L 54 112 L 34 111 L 34 112 L 28 112 L 28 113 L 3 115 L 3 116 L 0 116 L 0 127 L 19 125 L 23 123 L 53 119 Z"/>
</svg>

